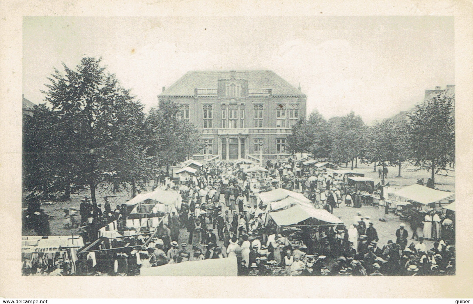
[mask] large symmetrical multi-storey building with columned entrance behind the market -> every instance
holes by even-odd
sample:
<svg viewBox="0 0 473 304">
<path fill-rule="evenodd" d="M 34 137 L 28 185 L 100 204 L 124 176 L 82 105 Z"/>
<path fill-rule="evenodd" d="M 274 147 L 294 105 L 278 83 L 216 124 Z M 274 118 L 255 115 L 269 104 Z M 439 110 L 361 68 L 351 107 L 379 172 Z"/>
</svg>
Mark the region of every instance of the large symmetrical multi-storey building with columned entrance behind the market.
<svg viewBox="0 0 473 304">
<path fill-rule="evenodd" d="M 191 71 L 158 99 L 199 129 L 205 148 L 195 159 L 287 158 L 290 128 L 306 116 L 306 95 L 272 71 Z"/>
</svg>

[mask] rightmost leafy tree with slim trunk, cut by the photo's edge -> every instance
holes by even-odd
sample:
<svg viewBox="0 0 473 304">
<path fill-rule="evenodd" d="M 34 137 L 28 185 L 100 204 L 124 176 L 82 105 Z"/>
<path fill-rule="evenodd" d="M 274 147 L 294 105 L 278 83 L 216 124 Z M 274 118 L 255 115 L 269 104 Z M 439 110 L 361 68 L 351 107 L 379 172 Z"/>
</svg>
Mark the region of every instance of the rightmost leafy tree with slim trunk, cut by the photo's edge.
<svg viewBox="0 0 473 304">
<path fill-rule="evenodd" d="M 421 169 L 430 170 L 432 185 L 435 173 L 455 161 L 454 103 L 455 96 L 441 93 L 416 105 L 416 110 L 408 115 L 412 161 Z"/>
</svg>

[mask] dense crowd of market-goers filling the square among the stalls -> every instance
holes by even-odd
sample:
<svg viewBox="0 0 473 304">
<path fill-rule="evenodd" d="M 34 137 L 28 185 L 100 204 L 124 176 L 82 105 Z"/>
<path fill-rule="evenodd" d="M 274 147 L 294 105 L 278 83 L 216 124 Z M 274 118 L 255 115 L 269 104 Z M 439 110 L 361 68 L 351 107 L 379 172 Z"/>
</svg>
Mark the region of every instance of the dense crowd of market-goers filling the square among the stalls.
<svg viewBox="0 0 473 304">
<path fill-rule="evenodd" d="M 341 176 L 290 159 L 267 161 L 265 168 L 276 181 L 273 185 L 302 193 L 314 206 L 329 212 L 341 205 L 360 209 L 360 191 L 374 191 L 348 187 Z M 425 215 L 423 236 L 412 235 L 415 243 L 408 246 L 409 235 L 401 224 L 394 233 L 395 241 L 381 246 L 373 221 L 360 212 L 352 223 L 277 230 L 275 223 L 267 221 L 267 206 L 257 200 L 243 166 L 232 162 L 211 161 L 200 168 L 195 179 L 184 183 L 160 175 L 155 186 L 178 192 L 180 208 L 166 215 L 156 233 L 142 227 L 137 235 L 110 240 L 105 246 L 108 250 L 79 255 L 78 273 L 138 275 L 142 267 L 234 256 L 241 276 L 455 274 L 454 238 L 439 229 L 442 223 L 447 224 L 446 229 L 452 223 L 448 218 L 438 220 L 443 215 L 435 212 Z M 274 186 L 261 191 L 272 189 Z M 66 213 L 64 223 L 88 226 L 90 233 L 84 237 L 89 242 L 96 239 L 96 231 L 104 223 L 117 220 L 123 230 L 129 208 L 117 205 L 112 210 L 108 199 L 104 200 L 102 211 L 100 205 L 94 208 L 88 198 L 83 199 L 80 220 L 75 213 Z M 388 205 L 384 199 L 379 208 L 379 220 L 385 221 Z M 428 249 L 424 239 L 436 242 Z"/>
</svg>

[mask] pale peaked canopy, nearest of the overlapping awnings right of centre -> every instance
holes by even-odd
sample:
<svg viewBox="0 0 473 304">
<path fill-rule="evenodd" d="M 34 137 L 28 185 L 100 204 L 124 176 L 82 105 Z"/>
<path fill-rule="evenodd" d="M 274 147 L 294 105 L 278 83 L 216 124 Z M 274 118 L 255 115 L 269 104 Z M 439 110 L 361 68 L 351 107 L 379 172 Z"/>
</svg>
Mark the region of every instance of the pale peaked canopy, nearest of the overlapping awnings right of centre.
<svg viewBox="0 0 473 304">
<path fill-rule="evenodd" d="M 341 219 L 327 210 L 315 209 L 312 206 L 296 205 L 285 210 L 270 212 L 269 215 L 278 226 L 295 225 L 308 218 L 315 218 L 329 224 L 343 224 Z"/>
</svg>

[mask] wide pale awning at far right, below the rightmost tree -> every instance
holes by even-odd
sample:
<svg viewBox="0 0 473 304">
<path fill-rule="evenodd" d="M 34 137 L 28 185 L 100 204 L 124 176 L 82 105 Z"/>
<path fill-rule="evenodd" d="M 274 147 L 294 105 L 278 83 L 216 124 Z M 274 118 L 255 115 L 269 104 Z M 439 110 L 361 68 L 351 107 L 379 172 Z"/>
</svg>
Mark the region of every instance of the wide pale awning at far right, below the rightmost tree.
<svg viewBox="0 0 473 304">
<path fill-rule="evenodd" d="M 454 192 L 435 190 L 421 186 L 419 184 L 413 184 L 411 186 L 399 189 L 395 192 L 395 194 L 423 205 L 440 201 L 448 201 L 455 197 Z"/>
</svg>

